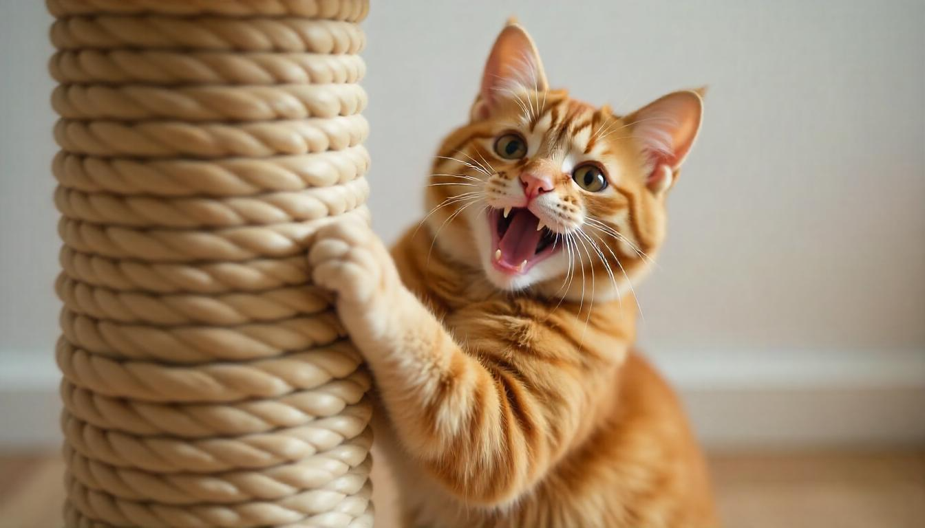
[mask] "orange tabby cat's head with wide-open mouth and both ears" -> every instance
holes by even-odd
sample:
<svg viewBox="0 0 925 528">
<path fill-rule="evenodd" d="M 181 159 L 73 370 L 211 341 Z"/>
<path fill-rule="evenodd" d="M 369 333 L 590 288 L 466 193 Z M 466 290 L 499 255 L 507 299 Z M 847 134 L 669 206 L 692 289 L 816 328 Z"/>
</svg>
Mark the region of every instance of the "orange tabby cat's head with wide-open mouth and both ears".
<svg viewBox="0 0 925 528">
<path fill-rule="evenodd" d="M 441 145 L 426 193 L 444 252 L 499 289 L 613 299 L 660 247 L 665 196 L 697 137 L 701 94 L 627 116 L 550 90 L 536 46 L 509 24 L 469 124 Z"/>
</svg>

